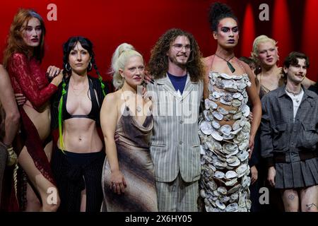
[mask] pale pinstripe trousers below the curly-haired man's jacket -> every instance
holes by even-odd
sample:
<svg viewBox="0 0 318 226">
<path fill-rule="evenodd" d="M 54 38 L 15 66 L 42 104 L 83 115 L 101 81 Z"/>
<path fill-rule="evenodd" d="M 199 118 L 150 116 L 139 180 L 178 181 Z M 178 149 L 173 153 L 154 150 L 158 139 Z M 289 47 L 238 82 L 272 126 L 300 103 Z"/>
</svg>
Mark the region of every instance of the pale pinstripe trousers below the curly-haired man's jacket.
<svg viewBox="0 0 318 226">
<path fill-rule="evenodd" d="M 199 183 L 184 182 L 178 174 L 173 182 L 156 182 L 160 212 L 198 212 Z"/>
</svg>

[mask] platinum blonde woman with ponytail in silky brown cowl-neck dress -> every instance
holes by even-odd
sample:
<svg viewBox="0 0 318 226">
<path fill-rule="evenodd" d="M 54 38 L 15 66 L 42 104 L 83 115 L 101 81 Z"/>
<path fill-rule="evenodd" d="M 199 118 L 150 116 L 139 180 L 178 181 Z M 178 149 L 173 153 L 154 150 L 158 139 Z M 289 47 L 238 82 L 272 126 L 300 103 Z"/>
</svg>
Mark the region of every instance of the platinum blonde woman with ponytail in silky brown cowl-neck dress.
<svg viewBox="0 0 318 226">
<path fill-rule="evenodd" d="M 117 91 L 100 112 L 106 155 L 102 173 L 103 211 L 158 211 L 148 136 L 153 128 L 151 100 L 142 95 L 144 62 L 130 44 L 112 57 Z"/>
</svg>

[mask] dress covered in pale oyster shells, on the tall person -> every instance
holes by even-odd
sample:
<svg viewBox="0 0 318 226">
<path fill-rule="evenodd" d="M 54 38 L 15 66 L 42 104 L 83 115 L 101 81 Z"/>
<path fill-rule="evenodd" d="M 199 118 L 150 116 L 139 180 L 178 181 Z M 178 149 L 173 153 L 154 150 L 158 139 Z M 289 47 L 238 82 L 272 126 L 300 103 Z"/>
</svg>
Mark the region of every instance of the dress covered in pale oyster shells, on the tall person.
<svg viewBox="0 0 318 226">
<path fill-rule="evenodd" d="M 208 98 L 199 120 L 200 196 L 208 212 L 245 212 L 251 208 L 246 90 L 251 83 L 247 73 L 210 71 L 208 76 Z"/>
</svg>

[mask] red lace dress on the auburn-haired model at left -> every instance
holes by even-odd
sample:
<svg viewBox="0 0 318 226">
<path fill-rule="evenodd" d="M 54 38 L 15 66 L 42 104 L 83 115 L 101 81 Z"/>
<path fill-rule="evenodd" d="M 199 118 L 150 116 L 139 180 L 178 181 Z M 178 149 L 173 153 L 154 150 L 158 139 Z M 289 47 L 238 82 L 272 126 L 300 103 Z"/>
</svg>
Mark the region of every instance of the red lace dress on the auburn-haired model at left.
<svg viewBox="0 0 318 226">
<path fill-rule="evenodd" d="M 28 59 L 25 54 L 16 52 L 9 59 L 7 69 L 14 93 L 23 93 L 35 109 L 44 105 L 57 91 L 57 86 L 47 81 L 45 72 L 40 69 L 40 62 L 35 58 Z M 28 153 L 33 158 L 35 167 L 49 182 L 55 184 L 44 151 L 45 143 L 40 140 L 35 125 L 25 113 L 23 107 L 19 106 L 19 111 L 22 119 L 21 129 Z"/>
</svg>

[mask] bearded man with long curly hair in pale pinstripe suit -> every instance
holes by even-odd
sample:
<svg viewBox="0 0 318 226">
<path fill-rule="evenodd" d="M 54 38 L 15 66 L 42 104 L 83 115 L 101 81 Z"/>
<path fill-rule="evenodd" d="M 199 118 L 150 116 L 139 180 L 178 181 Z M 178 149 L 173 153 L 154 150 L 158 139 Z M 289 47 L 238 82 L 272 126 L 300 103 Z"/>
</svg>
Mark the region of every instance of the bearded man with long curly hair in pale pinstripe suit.
<svg viewBox="0 0 318 226">
<path fill-rule="evenodd" d="M 198 135 L 204 66 L 194 37 L 179 29 L 162 35 L 151 51 L 148 84 L 153 100 L 151 157 L 159 211 L 198 211 L 201 172 Z"/>
</svg>

